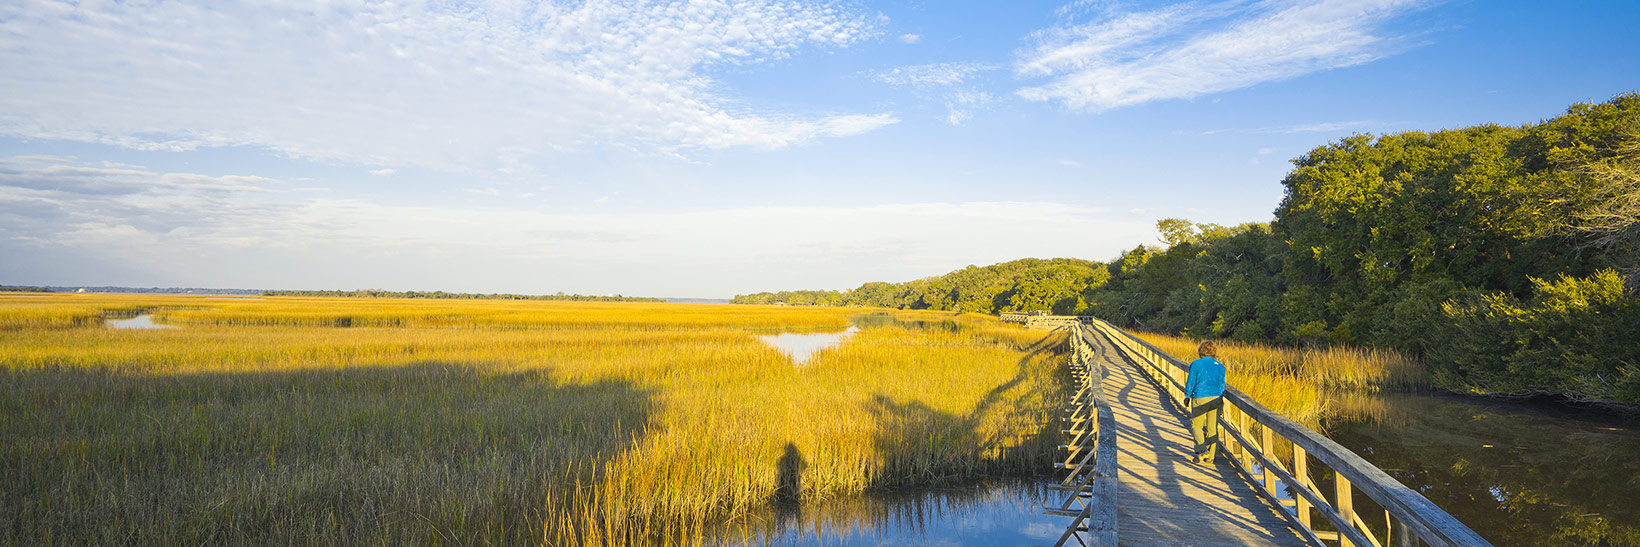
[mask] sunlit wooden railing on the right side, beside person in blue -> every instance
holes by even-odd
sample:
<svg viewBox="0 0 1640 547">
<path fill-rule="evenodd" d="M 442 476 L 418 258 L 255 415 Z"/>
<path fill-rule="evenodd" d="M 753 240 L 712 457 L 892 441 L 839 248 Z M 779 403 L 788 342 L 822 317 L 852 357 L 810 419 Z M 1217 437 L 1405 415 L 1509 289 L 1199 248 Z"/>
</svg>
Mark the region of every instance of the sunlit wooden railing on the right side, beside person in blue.
<svg viewBox="0 0 1640 547">
<path fill-rule="evenodd" d="M 1141 365 L 1178 408 L 1189 408 L 1184 398 L 1187 364 L 1104 321 L 1092 319 L 1091 329 Z M 1237 470 L 1258 485 L 1255 490 L 1266 500 L 1292 508 L 1282 514 L 1312 542 L 1353 547 L 1410 547 L 1419 540 L 1428 545 L 1491 545 L 1428 498 L 1350 449 L 1264 408 L 1235 388 L 1225 390 L 1220 431 L 1228 434 L 1220 434 L 1220 444 Z M 1282 449 L 1287 449 L 1286 459 L 1281 457 Z M 1332 500 L 1315 485 L 1312 460 L 1332 470 Z M 1383 526 L 1371 526 L 1361 518 L 1355 509 L 1355 491 L 1384 509 Z M 1330 529 L 1314 526 L 1317 514 Z"/>
</svg>

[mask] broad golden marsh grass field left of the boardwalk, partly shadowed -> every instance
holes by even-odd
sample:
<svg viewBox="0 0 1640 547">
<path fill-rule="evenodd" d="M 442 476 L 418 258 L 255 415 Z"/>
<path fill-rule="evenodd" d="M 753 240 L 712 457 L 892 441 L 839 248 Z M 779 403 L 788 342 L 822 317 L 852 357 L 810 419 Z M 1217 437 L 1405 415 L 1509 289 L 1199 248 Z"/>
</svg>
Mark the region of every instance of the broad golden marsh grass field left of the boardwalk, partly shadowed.
<svg viewBox="0 0 1640 547">
<path fill-rule="evenodd" d="M 98 324 L 134 311 L 182 328 Z M 0 300 L 0 542 L 694 544 L 790 473 L 818 500 L 1046 467 L 1043 332 L 897 313 L 805 367 L 754 339 L 861 313 Z"/>
</svg>

